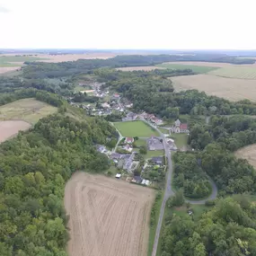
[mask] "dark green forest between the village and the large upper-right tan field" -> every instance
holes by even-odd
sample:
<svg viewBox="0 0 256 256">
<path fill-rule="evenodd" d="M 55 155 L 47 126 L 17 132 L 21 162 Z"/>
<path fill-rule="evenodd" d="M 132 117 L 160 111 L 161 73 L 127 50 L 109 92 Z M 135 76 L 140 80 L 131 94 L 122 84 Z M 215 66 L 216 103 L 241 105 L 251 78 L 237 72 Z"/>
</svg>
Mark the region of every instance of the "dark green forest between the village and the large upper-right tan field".
<svg viewBox="0 0 256 256">
<path fill-rule="evenodd" d="M 135 110 L 145 110 L 165 119 L 175 119 L 180 114 L 256 114 L 256 104 L 248 100 L 229 102 L 197 90 L 173 93 L 172 81 L 166 76 L 190 75 L 190 69 L 121 72 L 104 68 L 94 73 L 106 82 L 105 87 L 133 102 Z"/>
</svg>

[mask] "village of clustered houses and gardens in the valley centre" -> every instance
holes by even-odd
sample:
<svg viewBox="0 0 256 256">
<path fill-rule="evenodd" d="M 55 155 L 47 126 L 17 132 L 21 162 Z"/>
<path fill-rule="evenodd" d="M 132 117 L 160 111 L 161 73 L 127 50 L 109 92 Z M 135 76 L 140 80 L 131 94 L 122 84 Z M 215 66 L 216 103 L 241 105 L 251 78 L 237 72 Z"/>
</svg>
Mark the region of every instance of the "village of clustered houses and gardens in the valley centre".
<svg viewBox="0 0 256 256">
<path fill-rule="evenodd" d="M 83 86 L 83 84 L 79 85 Z M 122 99 L 119 93 L 110 93 L 108 90 L 102 89 L 102 84 L 96 82 L 90 84 L 90 86 L 90 90 L 81 92 L 98 97 L 99 102 L 77 104 L 72 101 L 72 98 L 67 100 L 70 104 L 83 108 L 91 116 L 107 117 L 114 115 L 119 117 L 115 121 L 127 122 L 127 124 L 141 121 L 150 124 L 152 127 L 165 129 L 164 137 L 168 150 L 180 150 L 175 145 L 175 140 L 171 137 L 172 134 L 190 133 L 188 124 L 181 123 L 180 119 L 176 119 L 171 126 L 165 126 L 163 120 L 157 118 L 154 114 L 145 111 L 133 112 L 132 102 Z M 164 182 L 166 172 L 163 139 L 160 135 L 125 137 L 119 128 L 117 130 L 119 131 L 119 141 L 115 148 L 96 146 L 97 151 L 106 154 L 110 159 L 111 167 L 107 175 L 144 186 L 160 186 Z"/>
</svg>

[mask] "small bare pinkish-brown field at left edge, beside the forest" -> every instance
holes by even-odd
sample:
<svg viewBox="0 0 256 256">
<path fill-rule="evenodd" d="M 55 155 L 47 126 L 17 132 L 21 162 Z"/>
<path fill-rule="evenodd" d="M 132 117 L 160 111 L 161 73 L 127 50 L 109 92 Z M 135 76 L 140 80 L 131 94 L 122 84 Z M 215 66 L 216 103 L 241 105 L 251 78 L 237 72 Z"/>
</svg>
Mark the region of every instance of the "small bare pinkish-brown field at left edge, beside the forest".
<svg viewBox="0 0 256 256">
<path fill-rule="evenodd" d="M 30 127 L 30 123 L 21 120 L 0 121 L 0 143 L 7 138 L 13 137 L 20 130 L 26 130 Z"/>
</svg>

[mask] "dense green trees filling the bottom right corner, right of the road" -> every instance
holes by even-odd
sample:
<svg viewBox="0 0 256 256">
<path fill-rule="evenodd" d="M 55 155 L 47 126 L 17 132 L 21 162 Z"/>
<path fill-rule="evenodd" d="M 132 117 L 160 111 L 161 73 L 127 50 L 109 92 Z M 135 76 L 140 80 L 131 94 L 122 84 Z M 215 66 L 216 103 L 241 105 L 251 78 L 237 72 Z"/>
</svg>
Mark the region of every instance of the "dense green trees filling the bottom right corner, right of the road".
<svg viewBox="0 0 256 256">
<path fill-rule="evenodd" d="M 219 199 L 199 220 L 165 217 L 161 256 L 256 255 L 256 205 L 246 197 Z"/>
</svg>

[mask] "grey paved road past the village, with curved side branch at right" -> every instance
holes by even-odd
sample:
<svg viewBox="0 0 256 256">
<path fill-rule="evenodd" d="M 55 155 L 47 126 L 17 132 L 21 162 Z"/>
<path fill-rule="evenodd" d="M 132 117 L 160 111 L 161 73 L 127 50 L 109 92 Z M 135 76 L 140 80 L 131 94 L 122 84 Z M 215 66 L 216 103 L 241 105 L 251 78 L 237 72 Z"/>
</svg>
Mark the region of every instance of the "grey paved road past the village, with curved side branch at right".
<svg viewBox="0 0 256 256">
<path fill-rule="evenodd" d="M 168 163 L 163 202 L 162 202 L 159 219 L 158 219 L 158 224 L 157 224 L 157 227 L 155 230 L 155 236 L 154 236 L 154 247 L 153 247 L 153 251 L 152 251 L 152 256 L 155 256 L 156 251 L 157 251 L 159 236 L 160 236 L 160 232 L 161 232 L 161 227 L 162 227 L 162 223 L 163 223 L 163 214 L 164 214 L 165 204 L 166 204 L 167 199 L 169 199 L 172 195 L 174 195 L 174 192 L 172 191 L 172 157 L 171 157 L 171 151 L 167 146 L 166 138 L 164 137 L 163 133 L 159 130 L 159 128 L 157 128 L 154 125 L 152 125 L 151 123 L 147 122 L 146 119 L 142 119 L 142 120 L 145 121 L 149 126 L 151 126 L 152 128 L 156 129 L 159 132 L 160 136 L 163 139 L 164 153 L 165 153 L 165 157 L 166 157 L 167 163 Z M 199 204 L 204 204 L 208 199 L 216 199 L 216 194 L 217 194 L 216 184 L 210 178 L 209 178 L 209 181 L 212 185 L 213 191 L 212 191 L 212 194 L 207 199 L 203 199 L 203 200 L 199 200 L 199 201 L 197 201 L 197 200 L 186 200 L 186 201 L 190 202 L 191 204 L 199 205 Z"/>
</svg>

